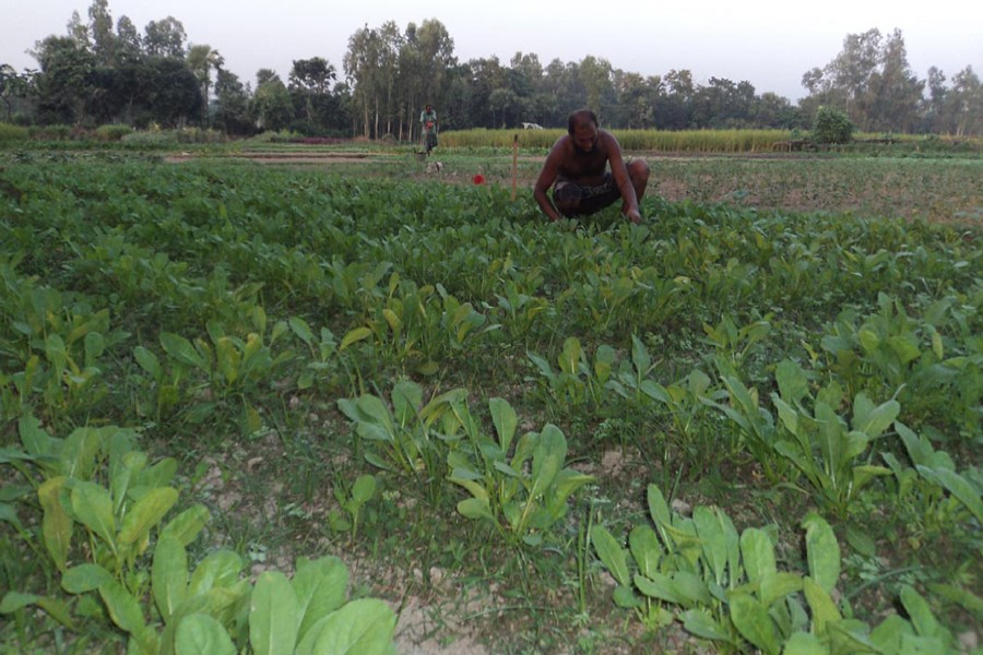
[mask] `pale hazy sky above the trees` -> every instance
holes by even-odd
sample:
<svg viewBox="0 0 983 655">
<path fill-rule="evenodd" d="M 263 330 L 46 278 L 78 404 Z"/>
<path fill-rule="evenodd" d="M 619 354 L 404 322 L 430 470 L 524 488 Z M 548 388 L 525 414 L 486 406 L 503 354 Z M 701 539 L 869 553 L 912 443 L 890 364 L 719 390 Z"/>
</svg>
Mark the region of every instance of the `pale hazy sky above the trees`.
<svg viewBox="0 0 983 655">
<path fill-rule="evenodd" d="M 0 0 L 0 63 L 36 68 L 26 50 L 48 35 L 64 35 L 72 11 L 87 22 L 91 0 Z M 633 9 L 632 9 L 633 8 Z M 935 66 L 951 81 L 971 66 L 983 75 L 983 2 L 967 0 L 694 0 L 605 2 L 569 0 L 109 0 L 114 20 L 127 15 L 141 34 L 150 21 L 174 16 L 188 41 L 208 44 L 228 70 L 256 85 L 261 68 L 287 81 L 295 59 L 322 57 L 343 76 L 348 37 L 368 25 L 440 21 L 459 61 L 517 51 L 579 62 L 588 55 L 642 75 L 689 70 L 697 84 L 711 76 L 748 81 L 758 94 L 793 103 L 805 95 L 802 75 L 829 63 L 848 34 L 876 27 L 901 31 L 912 72 Z"/>
</svg>

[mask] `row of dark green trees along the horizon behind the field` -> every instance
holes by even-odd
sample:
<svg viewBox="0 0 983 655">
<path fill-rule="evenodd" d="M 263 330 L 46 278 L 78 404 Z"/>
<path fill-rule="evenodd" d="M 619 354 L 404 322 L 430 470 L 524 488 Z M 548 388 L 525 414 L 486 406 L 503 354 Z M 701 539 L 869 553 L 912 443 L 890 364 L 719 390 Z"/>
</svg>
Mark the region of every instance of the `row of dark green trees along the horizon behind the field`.
<svg viewBox="0 0 983 655">
<path fill-rule="evenodd" d="M 173 16 L 141 33 L 114 21 L 108 0 L 78 12 L 67 34 L 50 35 L 32 52 L 36 70 L 0 64 L 7 122 L 93 127 L 199 126 L 230 135 L 292 130 L 312 136 L 418 136 L 424 104 L 440 111 L 442 129 L 562 127 L 568 114 L 591 107 L 618 129 L 808 129 L 820 106 L 843 111 L 861 131 L 983 134 L 983 85 L 967 66 L 947 79 L 932 68 L 919 80 L 900 31 L 848 35 L 843 50 L 807 71 L 808 95 L 793 105 L 749 82 L 688 70 L 644 76 L 603 57 L 543 64 L 532 52 L 461 62 L 438 20 L 392 22 L 348 38 L 339 70 L 328 59 L 293 61 L 287 80 L 261 69 L 240 80 L 210 45 L 191 45 Z"/>
</svg>

